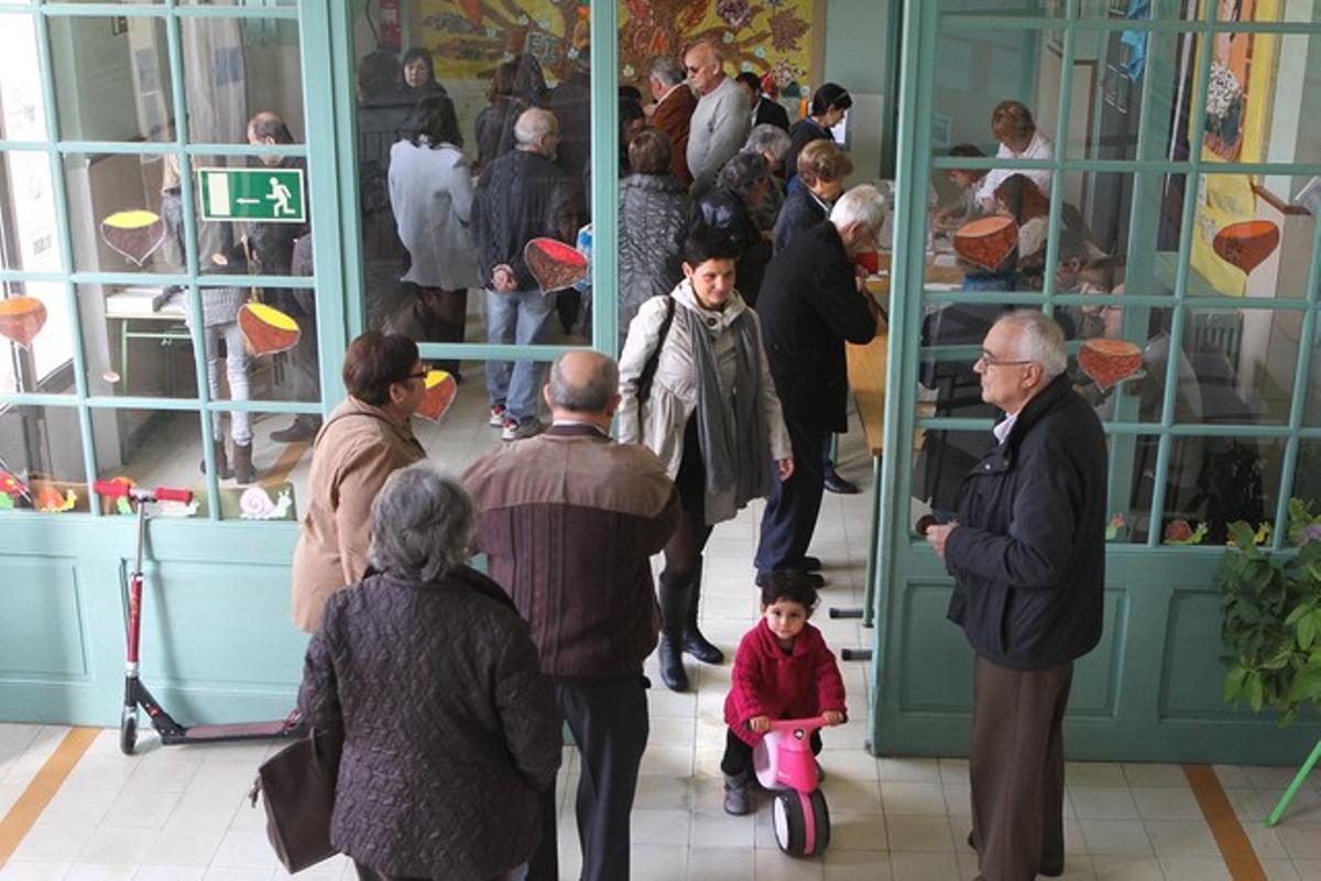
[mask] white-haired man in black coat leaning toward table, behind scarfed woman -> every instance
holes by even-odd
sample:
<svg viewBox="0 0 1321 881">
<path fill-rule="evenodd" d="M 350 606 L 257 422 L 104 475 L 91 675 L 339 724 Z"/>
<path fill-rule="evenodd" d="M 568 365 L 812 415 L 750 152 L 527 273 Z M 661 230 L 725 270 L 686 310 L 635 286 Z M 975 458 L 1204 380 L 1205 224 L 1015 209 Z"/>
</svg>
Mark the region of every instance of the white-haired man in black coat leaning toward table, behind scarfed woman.
<svg viewBox="0 0 1321 881">
<path fill-rule="evenodd" d="M 824 584 L 815 575 L 820 560 L 807 556 L 824 490 L 822 449 L 831 432 L 848 431 L 844 343 L 871 342 L 881 317 L 853 258 L 876 250 L 884 223 L 885 197 L 869 184 L 855 186 L 828 223 L 799 234 L 766 268 L 757 316 L 797 466 L 766 501 L 760 585 L 782 569 L 812 572 L 814 584 Z"/>
</svg>

